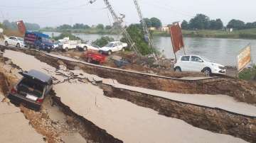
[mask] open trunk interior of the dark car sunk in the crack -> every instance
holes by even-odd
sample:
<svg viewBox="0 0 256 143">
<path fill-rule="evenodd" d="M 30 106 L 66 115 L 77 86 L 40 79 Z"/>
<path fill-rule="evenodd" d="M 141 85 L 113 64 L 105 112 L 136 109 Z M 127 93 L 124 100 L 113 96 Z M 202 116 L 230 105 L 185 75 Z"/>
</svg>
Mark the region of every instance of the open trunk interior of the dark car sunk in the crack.
<svg viewBox="0 0 256 143">
<path fill-rule="evenodd" d="M 18 92 L 28 93 L 40 98 L 43 96 L 43 87 L 42 84 L 38 84 L 38 82 L 33 79 L 24 78 L 21 83 L 18 84 Z"/>
</svg>

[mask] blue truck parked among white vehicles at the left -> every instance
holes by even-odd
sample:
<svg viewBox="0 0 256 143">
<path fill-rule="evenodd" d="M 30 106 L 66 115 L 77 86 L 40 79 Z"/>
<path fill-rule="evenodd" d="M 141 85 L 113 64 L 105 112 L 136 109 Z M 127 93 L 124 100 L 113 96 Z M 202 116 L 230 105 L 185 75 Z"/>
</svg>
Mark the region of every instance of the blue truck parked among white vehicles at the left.
<svg viewBox="0 0 256 143">
<path fill-rule="evenodd" d="M 53 50 L 53 41 L 50 40 L 49 35 L 39 32 L 26 31 L 24 44 L 28 48 L 35 48 L 37 50 L 45 50 L 47 52 Z"/>
</svg>

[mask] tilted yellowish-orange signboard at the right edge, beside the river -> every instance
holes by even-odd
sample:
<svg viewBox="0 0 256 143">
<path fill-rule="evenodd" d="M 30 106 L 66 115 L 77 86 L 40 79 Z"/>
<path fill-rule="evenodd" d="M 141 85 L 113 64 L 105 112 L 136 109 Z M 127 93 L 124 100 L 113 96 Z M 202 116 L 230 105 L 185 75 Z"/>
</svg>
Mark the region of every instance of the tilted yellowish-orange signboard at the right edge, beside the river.
<svg viewBox="0 0 256 143">
<path fill-rule="evenodd" d="M 245 47 L 242 52 L 238 55 L 238 71 L 241 71 L 249 64 L 252 60 L 251 57 L 251 47 L 248 45 Z"/>
</svg>

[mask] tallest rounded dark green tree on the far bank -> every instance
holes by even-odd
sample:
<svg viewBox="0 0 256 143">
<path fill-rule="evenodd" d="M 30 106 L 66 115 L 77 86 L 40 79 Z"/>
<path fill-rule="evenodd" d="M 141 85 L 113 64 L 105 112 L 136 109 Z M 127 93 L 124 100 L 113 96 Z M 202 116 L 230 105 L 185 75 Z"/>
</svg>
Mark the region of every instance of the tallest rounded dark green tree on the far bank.
<svg viewBox="0 0 256 143">
<path fill-rule="evenodd" d="M 210 18 L 204 14 L 197 14 L 195 18 L 191 18 L 189 21 L 190 29 L 208 29 Z"/>
</svg>

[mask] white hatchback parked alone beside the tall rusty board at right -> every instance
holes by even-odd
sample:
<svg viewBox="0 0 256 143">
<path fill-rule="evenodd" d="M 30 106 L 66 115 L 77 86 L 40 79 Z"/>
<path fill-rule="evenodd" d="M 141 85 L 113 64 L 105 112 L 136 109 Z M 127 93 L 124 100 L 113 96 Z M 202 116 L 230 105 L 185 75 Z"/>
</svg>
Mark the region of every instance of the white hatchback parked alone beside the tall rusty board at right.
<svg viewBox="0 0 256 143">
<path fill-rule="evenodd" d="M 205 57 L 198 55 L 181 56 L 176 64 L 174 64 L 175 71 L 198 71 L 206 75 L 210 74 L 225 74 L 225 67 L 221 64 L 211 62 Z"/>
</svg>

